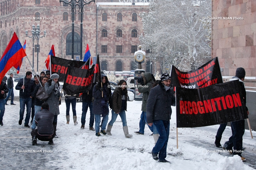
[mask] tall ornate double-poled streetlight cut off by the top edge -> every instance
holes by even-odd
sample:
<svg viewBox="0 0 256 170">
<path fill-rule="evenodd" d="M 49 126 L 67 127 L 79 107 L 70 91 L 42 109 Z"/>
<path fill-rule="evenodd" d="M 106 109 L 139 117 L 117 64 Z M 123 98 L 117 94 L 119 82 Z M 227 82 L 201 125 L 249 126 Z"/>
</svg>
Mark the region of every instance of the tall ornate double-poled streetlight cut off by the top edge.
<svg viewBox="0 0 256 170">
<path fill-rule="evenodd" d="M 95 3 L 95 0 L 60 0 L 60 3 L 63 2 L 71 6 L 72 13 L 72 45 L 71 45 L 71 58 L 74 60 L 74 13 L 78 9 L 78 13 L 81 13 L 81 23 L 80 23 L 80 60 L 83 59 L 83 6 L 90 4 L 91 2 Z"/>
</svg>

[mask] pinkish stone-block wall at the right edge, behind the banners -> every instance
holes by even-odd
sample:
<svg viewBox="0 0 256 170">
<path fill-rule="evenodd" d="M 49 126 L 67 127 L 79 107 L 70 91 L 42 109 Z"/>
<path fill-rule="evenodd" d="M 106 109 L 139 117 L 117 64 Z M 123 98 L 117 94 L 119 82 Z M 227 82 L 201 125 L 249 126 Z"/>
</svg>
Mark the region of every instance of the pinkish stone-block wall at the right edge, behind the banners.
<svg viewBox="0 0 256 170">
<path fill-rule="evenodd" d="M 256 76 L 256 0 L 212 0 L 212 57 L 218 57 L 223 76 L 244 67 Z M 236 18 L 243 19 L 236 19 Z"/>
</svg>

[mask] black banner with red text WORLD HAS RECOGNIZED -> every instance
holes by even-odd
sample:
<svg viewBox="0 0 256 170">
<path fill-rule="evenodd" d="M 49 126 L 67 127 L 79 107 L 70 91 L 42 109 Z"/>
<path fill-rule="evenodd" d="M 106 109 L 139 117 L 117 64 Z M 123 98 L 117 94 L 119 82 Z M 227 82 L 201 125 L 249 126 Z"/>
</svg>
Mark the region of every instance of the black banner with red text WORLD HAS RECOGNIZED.
<svg viewBox="0 0 256 170">
<path fill-rule="evenodd" d="M 218 57 L 213 58 L 198 69 L 189 72 L 182 72 L 175 66 L 172 66 L 171 79 L 172 86 L 189 89 L 223 83 Z"/>
</svg>

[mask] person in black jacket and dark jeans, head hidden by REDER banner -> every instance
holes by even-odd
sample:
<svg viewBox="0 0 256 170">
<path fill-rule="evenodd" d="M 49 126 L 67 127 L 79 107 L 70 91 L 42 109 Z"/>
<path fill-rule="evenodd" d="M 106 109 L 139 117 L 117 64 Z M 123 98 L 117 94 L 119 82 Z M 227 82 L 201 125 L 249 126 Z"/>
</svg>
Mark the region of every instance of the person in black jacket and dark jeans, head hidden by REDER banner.
<svg viewBox="0 0 256 170">
<path fill-rule="evenodd" d="M 90 109 L 90 121 L 89 121 L 89 130 L 95 131 L 93 128 L 94 124 L 94 114 L 92 112 L 92 91 L 93 87 L 96 83 L 92 84 L 92 88 L 89 91 L 86 91 L 82 94 L 82 117 L 81 117 L 81 129 L 84 129 L 85 125 L 85 118 L 86 118 L 86 113 L 88 110 L 88 107 Z"/>
</svg>

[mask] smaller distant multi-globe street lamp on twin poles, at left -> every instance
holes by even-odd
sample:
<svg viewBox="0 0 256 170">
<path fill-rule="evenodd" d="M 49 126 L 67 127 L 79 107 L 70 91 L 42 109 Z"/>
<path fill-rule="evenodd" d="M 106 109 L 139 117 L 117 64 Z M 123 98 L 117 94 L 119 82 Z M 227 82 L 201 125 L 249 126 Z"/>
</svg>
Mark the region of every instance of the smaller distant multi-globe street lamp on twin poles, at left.
<svg viewBox="0 0 256 170">
<path fill-rule="evenodd" d="M 33 63 L 32 63 L 33 68 L 34 68 L 34 42 L 37 41 L 37 73 L 38 73 L 38 49 L 39 49 L 38 42 L 39 42 L 40 38 L 46 36 L 46 31 L 44 30 L 43 36 L 40 36 L 41 30 L 40 30 L 39 24 L 37 24 L 36 27 L 37 27 L 37 29 L 35 30 L 35 25 L 34 24 L 32 25 L 32 30 L 31 30 L 32 36 L 28 36 L 27 30 L 25 31 L 25 33 L 26 33 L 27 37 L 32 38 L 32 42 L 33 42 Z"/>
</svg>

